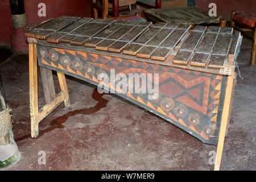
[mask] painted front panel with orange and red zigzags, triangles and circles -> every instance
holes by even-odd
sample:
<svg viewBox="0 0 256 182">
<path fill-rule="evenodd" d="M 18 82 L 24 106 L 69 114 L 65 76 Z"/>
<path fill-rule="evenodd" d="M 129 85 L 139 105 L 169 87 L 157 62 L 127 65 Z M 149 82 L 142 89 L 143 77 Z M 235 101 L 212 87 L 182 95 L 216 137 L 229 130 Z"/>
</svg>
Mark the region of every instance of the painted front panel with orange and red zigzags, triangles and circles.
<svg viewBox="0 0 256 182">
<path fill-rule="evenodd" d="M 48 51 L 51 49 L 51 47 L 45 48 Z M 107 85 L 111 89 L 118 89 L 123 97 L 129 98 L 135 104 L 160 115 L 181 129 L 189 131 L 195 137 L 204 140 L 205 143 L 216 143 L 216 140 L 213 141 L 209 134 L 205 133 L 205 128 L 214 130 L 214 126 L 216 126 L 218 106 L 221 100 L 222 76 L 88 52 L 54 49 L 59 57 L 68 56 L 70 61 L 64 65 L 60 60 L 52 61 L 49 57 L 44 59 L 41 57 L 40 65 L 90 80 L 95 85 L 99 82 L 97 74 L 105 72 L 110 76 L 110 69 L 115 69 L 115 74 L 124 73 L 126 76 L 129 73 L 144 73 L 145 75 L 158 73 L 160 97 L 156 100 L 149 100 L 147 93 L 123 93 L 121 88 L 115 88 L 113 82 L 109 82 Z M 80 62 L 77 64 L 74 60 L 80 60 L 82 65 Z M 168 109 L 170 104 L 173 106 L 171 110 Z M 217 130 L 215 133 L 213 132 L 216 135 L 215 138 L 218 137 Z M 211 135 L 213 134 L 211 133 Z"/>
</svg>

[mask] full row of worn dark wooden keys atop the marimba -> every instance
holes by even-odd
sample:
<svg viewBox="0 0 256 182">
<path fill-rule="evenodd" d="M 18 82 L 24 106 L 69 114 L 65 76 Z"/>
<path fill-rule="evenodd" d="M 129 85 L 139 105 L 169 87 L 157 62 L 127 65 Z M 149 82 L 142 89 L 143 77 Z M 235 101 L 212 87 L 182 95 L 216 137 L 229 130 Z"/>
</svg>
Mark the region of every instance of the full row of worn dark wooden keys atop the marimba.
<svg viewBox="0 0 256 182">
<path fill-rule="evenodd" d="M 72 22 L 72 23 L 71 23 Z M 91 19 L 61 16 L 28 28 L 26 36 L 47 39 L 48 43 L 81 46 L 81 50 L 119 53 L 115 56 L 130 57 L 181 68 L 210 70 L 229 75 L 233 60 L 241 44 L 241 34 L 230 27 L 195 26 L 158 22 L 131 22 L 113 19 Z M 31 41 L 28 40 L 28 41 Z M 33 39 L 33 43 L 38 40 Z M 92 49 L 92 50 L 93 50 Z M 91 49 L 89 49 L 91 50 Z M 86 52 L 86 51 L 85 51 Z M 103 53 L 102 55 L 108 55 Z M 159 62 L 160 63 L 160 62 Z M 214 71 L 215 72 L 215 71 Z"/>
</svg>

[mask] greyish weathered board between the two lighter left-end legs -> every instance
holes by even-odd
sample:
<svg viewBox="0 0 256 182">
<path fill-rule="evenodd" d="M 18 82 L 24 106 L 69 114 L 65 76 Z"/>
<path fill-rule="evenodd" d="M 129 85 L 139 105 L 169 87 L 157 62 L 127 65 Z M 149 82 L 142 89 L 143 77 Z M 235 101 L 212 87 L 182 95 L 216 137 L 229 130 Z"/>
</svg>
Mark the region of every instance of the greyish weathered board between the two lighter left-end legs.
<svg viewBox="0 0 256 182">
<path fill-rule="evenodd" d="M 44 98 L 46 98 L 46 104 L 51 104 L 53 101 L 56 100 L 52 71 L 51 69 L 40 67 L 40 72 L 44 89 Z"/>
</svg>

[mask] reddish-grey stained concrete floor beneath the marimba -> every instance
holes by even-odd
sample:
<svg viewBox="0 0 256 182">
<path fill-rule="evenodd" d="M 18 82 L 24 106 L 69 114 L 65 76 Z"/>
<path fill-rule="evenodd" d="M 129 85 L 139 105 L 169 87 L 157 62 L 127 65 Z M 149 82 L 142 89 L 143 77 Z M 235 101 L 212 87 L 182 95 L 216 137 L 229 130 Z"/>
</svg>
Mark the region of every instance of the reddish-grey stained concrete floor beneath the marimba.
<svg viewBox="0 0 256 182">
<path fill-rule="evenodd" d="M 256 68 L 249 66 L 251 42 L 243 38 L 238 57 L 243 80 L 237 78 L 221 170 L 256 169 Z M 30 138 L 28 55 L 9 57 L 8 51 L 1 52 L 3 89 L 13 109 L 14 136 L 21 153 L 18 162 L 5 170 L 213 170 L 208 160 L 216 146 L 68 76 L 71 107 L 57 107 L 40 123 L 39 137 Z M 59 92 L 56 74 L 53 77 Z M 41 107 L 40 77 L 39 98 Z M 46 152 L 45 165 L 38 164 L 39 151 Z"/>
</svg>

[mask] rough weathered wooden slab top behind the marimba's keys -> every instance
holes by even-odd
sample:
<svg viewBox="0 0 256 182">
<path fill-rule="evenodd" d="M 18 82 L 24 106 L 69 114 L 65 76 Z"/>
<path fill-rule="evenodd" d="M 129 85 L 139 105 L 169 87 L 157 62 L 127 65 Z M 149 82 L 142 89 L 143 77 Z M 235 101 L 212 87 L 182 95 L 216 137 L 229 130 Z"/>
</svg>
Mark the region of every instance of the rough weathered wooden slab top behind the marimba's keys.
<svg viewBox="0 0 256 182">
<path fill-rule="evenodd" d="M 147 18 L 156 22 L 181 24 L 220 23 L 221 16 L 210 17 L 207 10 L 198 7 L 175 7 L 170 9 L 148 9 L 144 11 Z"/>
</svg>

